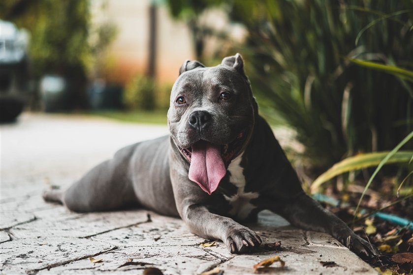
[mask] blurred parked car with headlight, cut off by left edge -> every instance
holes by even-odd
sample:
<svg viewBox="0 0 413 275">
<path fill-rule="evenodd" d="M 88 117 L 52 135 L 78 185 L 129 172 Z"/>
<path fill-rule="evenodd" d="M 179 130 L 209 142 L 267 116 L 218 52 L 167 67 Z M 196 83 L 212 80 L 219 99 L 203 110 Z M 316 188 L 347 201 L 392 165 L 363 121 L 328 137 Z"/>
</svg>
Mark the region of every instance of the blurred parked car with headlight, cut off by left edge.
<svg viewBox="0 0 413 275">
<path fill-rule="evenodd" d="M 0 121 L 13 121 L 29 99 L 28 35 L 0 20 Z"/>
</svg>

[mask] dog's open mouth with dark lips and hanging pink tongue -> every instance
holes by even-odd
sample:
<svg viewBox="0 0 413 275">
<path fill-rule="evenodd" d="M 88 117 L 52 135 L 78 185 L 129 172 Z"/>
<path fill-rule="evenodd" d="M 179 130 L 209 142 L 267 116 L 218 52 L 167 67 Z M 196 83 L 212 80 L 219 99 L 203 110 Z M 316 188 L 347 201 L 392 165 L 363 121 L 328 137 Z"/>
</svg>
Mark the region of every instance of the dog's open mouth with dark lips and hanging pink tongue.
<svg viewBox="0 0 413 275">
<path fill-rule="evenodd" d="M 224 145 L 199 140 L 190 148 L 181 149 L 191 162 L 189 179 L 208 194 L 214 192 L 225 176 L 232 157 L 241 150 L 245 136 L 245 133 L 240 133 L 236 139 Z"/>
</svg>

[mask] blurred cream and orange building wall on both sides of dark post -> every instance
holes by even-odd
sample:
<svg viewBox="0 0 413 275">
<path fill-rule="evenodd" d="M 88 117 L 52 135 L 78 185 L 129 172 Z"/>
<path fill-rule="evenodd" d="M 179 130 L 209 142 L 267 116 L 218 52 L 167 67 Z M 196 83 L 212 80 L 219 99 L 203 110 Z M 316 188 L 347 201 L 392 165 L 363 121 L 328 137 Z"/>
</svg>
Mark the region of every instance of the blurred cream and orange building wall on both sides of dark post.
<svg viewBox="0 0 413 275">
<path fill-rule="evenodd" d="M 92 24 L 109 21 L 118 34 L 107 58 L 112 81 L 126 84 L 136 73 L 146 73 L 149 55 L 150 0 L 92 0 Z M 167 6 L 158 5 L 156 78 L 173 83 L 182 63 L 194 59 L 191 35 L 185 23 L 175 21 Z"/>
</svg>

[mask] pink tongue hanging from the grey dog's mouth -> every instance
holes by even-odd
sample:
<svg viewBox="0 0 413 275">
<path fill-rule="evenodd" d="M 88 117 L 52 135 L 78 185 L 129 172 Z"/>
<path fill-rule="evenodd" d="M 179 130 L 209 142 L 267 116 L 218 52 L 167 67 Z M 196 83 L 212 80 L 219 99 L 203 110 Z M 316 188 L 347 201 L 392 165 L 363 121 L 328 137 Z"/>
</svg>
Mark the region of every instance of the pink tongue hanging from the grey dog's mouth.
<svg viewBox="0 0 413 275">
<path fill-rule="evenodd" d="M 211 195 L 226 174 L 221 145 L 200 140 L 192 145 L 189 178 Z"/>
</svg>

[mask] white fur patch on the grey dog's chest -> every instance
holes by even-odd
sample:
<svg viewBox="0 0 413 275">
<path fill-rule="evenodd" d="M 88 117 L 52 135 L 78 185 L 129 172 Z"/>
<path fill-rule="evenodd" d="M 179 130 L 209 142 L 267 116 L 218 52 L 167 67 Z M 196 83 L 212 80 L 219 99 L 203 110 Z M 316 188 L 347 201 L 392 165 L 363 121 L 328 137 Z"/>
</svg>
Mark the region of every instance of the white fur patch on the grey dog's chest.
<svg viewBox="0 0 413 275">
<path fill-rule="evenodd" d="M 240 166 L 242 160 L 242 154 L 237 156 L 232 160 L 231 164 L 228 166 L 228 171 L 231 173 L 229 177 L 229 182 L 238 187 L 238 191 L 235 195 L 228 197 L 225 196 L 225 199 L 232 206 L 229 214 L 238 216 L 241 219 L 246 218 L 251 211 L 255 208 L 254 205 L 250 203 L 252 199 L 258 197 L 258 193 L 247 192 L 244 193 L 245 187 L 245 177 L 244 177 L 244 168 Z"/>
</svg>

